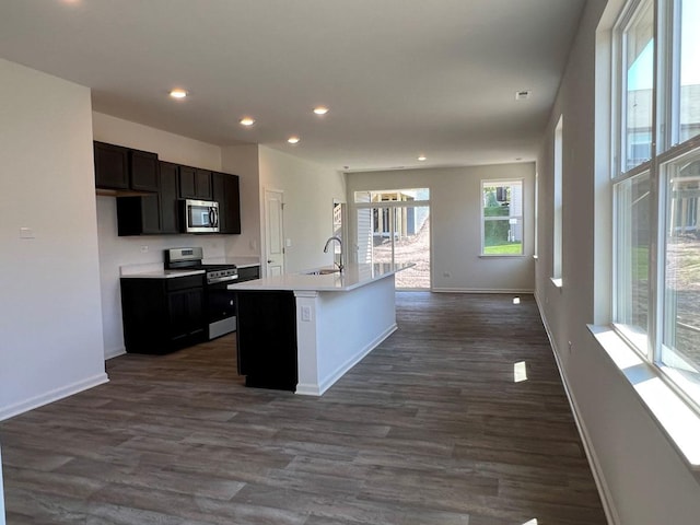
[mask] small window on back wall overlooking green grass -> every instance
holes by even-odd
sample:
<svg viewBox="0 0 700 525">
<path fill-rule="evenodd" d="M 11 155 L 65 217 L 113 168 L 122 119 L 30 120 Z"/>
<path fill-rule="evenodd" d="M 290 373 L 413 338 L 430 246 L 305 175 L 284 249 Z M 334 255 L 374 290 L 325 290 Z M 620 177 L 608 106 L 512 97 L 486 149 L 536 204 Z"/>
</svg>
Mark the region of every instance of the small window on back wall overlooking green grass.
<svg viewBox="0 0 700 525">
<path fill-rule="evenodd" d="M 523 180 L 481 182 L 481 255 L 523 255 Z"/>
</svg>

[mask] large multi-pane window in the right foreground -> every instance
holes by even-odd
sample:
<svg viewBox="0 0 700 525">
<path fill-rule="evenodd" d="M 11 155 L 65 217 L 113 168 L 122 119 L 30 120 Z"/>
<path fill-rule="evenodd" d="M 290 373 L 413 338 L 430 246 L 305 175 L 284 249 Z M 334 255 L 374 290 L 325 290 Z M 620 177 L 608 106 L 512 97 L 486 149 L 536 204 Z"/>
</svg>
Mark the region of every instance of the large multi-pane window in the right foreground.
<svg viewBox="0 0 700 525">
<path fill-rule="evenodd" d="M 616 26 L 614 322 L 700 408 L 700 0 Z"/>
</svg>

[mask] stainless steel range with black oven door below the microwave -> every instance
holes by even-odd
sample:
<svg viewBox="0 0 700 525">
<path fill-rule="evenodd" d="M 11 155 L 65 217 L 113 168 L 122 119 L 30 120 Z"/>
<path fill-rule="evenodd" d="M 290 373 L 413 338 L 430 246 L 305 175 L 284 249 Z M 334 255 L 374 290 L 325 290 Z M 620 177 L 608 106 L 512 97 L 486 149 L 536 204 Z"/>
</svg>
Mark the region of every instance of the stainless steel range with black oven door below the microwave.
<svg viewBox="0 0 700 525">
<path fill-rule="evenodd" d="M 235 294 L 226 287 L 238 279 L 236 265 L 203 264 L 201 247 L 166 249 L 164 258 L 164 267 L 170 271 L 205 270 L 205 315 L 209 339 L 234 331 Z"/>
</svg>

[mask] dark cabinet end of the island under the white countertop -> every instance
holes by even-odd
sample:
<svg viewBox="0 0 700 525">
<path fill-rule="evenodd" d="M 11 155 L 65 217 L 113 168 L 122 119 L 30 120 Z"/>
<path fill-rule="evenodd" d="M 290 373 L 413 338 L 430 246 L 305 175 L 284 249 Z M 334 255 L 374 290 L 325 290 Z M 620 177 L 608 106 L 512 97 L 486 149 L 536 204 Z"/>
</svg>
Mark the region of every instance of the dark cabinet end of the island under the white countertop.
<svg viewBox="0 0 700 525">
<path fill-rule="evenodd" d="M 245 385 L 296 390 L 294 292 L 236 291 L 238 374 Z"/>
</svg>

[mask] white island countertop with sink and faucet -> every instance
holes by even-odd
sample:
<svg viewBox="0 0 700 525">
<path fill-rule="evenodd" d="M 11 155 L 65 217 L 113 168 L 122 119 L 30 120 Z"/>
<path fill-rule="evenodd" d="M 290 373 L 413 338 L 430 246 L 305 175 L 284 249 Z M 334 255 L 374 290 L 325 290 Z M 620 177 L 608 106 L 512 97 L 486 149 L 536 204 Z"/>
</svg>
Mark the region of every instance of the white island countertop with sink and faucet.
<svg viewBox="0 0 700 525">
<path fill-rule="evenodd" d="M 370 282 L 393 276 L 398 271 L 411 268 L 413 262 L 393 265 L 375 262 L 373 265 L 348 265 L 342 273 L 308 275 L 313 271 L 331 269 L 317 268 L 299 273 L 284 273 L 277 277 L 266 277 L 254 281 L 229 284 L 229 290 L 289 290 L 316 292 L 347 292 L 363 287 Z"/>
</svg>

